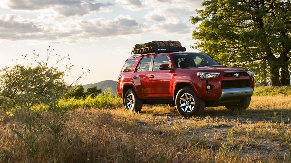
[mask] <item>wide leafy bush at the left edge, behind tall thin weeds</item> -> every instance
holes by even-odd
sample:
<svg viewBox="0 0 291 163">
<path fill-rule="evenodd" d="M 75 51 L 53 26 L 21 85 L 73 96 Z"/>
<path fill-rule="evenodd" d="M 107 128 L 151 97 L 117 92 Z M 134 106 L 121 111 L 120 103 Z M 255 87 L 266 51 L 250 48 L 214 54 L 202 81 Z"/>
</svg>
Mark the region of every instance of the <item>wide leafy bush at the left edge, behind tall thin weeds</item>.
<svg viewBox="0 0 291 163">
<path fill-rule="evenodd" d="M 63 77 L 58 68 L 46 71 L 42 66 L 20 64 L 5 67 L 0 70 L 0 107 L 46 104 L 51 101 L 52 94 L 60 98 L 67 91 Z"/>
</svg>

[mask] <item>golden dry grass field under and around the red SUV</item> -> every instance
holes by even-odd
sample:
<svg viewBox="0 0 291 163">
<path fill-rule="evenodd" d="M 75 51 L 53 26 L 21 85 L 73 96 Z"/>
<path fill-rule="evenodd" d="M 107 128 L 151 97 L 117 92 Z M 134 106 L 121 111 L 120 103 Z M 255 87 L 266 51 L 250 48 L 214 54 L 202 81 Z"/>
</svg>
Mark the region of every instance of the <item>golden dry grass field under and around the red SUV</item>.
<svg viewBox="0 0 291 163">
<path fill-rule="evenodd" d="M 77 110 L 58 135 L 48 129 L 37 139 L 34 158 L 12 132 L 28 134 L 17 115 L 0 110 L 0 162 L 290 162 L 291 139 L 279 134 L 290 133 L 290 101 L 291 95 L 257 96 L 248 110 L 206 108 L 189 119 L 163 105 L 145 105 L 141 113 Z"/>
</svg>

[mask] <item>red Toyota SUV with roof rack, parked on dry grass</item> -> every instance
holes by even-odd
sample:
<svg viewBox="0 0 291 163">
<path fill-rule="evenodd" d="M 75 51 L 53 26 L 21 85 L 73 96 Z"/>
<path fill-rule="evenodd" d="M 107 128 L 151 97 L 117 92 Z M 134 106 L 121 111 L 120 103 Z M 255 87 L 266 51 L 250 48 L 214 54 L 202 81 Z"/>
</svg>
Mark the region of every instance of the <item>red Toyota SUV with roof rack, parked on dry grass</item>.
<svg viewBox="0 0 291 163">
<path fill-rule="evenodd" d="M 183 117 L 199 116 L 204 107 L 249 107 L 253 71 L 223 66 L 205 53 L 185 47 L 147 47 L 132 51 L 118 75 L 117 93 L 127 110 L 142 104 L 175 104 Z"/>
</svg>

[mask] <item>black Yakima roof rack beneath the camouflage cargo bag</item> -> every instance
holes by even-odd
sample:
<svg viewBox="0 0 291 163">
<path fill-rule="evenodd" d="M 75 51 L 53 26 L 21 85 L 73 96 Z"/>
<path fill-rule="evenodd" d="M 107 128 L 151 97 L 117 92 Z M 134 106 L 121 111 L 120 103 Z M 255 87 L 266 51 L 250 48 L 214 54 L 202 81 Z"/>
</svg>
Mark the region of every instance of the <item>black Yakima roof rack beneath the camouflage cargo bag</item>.
<svg viewBox="0 0 291 163">
<path fill-rule="evenodd" d="M 185 52 L 186 47 L 146 47 L 142 49 L 136 49 L 131 51 L 131 55 L 146 55 L 156 53 L 169 53 L 169 52 Z"/>
</svg>

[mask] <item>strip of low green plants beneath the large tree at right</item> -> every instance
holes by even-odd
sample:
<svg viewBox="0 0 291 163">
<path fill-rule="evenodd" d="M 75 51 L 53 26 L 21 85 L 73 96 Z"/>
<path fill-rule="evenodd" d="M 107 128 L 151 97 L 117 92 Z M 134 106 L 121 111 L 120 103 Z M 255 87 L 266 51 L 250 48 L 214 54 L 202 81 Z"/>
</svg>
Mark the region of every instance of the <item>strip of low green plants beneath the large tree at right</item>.
<svg viewBox="0 0 291 163">
<path fill-rule="evenodd" d="M 290 95 L 291 94 L 291 87 L 290 86 L 255 87 L 253 96 L 268 96 L 268 95 L 276 95 L 276 94 Z"/>
</svg>

